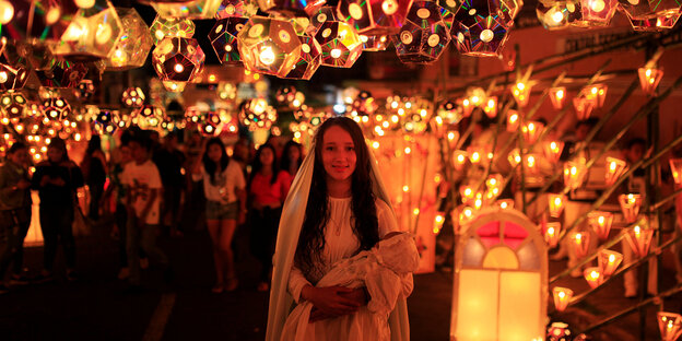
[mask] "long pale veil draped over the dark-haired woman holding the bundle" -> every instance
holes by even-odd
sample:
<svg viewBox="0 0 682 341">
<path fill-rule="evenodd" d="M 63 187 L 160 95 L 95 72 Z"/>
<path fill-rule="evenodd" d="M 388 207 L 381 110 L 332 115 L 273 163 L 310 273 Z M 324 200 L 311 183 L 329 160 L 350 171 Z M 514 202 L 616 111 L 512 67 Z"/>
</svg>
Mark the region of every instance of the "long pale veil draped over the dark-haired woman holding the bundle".
<svg viewBox="0 0 682 341">
<path fill-rule="evenodd" d="M 365 148 L 367 148 L 365 145 Z M 377 199 L 384 200 L 395 216 L 393 208 L 381 180 L 374 154 L 367 148 L 369 163 L 372 164 L 373 191 Z M 272 287 L 270 291 L 270 305 L 268 310 L 268 329 L 266 341 L 278 341 L 282 334 L 282 328 L 286 317 L 293 308 L 294 299 L 289 293 L 289 272 L 291 271 L 298 243 L 298 234 L 303 226 L 310 183 L 313 181 L 313 168 L 315 167 L 315 143 L 310 152 L 303 161 L 294 183 L 290 189 L 286 201 L 282 209 L 280 230 L 277 237 L 277 247 L 273 257 Z M 404 298 L 399 298 L 396 308 L 389 317 L 391 341 L 410 340 L 410 325 L 408 318 L 408 305 Z"/>
</svg>

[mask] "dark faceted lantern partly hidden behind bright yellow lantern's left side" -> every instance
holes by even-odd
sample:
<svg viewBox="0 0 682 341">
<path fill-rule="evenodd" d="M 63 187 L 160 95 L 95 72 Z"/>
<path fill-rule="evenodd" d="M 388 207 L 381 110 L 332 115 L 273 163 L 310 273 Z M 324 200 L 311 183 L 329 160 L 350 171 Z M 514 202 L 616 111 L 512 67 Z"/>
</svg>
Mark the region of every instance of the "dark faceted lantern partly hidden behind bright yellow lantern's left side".
<svg viewBox="0 0 682 341">
<path fill-rule="evenodd" d="M 240 64 L 242 57 L 237 47 L 237 35 L 248 22 L 247 17 L 230 16 L 220 19 L 209 32 L 209 40 L 217 55 L 217 59 L 224 64 Z"/>
</svg>

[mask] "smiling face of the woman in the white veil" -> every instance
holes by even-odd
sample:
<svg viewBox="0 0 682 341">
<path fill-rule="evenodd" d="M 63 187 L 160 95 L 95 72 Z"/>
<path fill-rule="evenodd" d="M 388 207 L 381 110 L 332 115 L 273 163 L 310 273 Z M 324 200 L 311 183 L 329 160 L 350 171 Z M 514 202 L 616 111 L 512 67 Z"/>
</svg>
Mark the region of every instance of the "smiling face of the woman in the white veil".
<svg viewBox="0 0 682 341">
<path fill-rule="evenodd" d="M 339 126 L 331 126 L 322 136 L 322 165 L 327 178 L 337 181 L 350 179 L 355 172 L 355 144 L 351 134 Z"/>
</svg>

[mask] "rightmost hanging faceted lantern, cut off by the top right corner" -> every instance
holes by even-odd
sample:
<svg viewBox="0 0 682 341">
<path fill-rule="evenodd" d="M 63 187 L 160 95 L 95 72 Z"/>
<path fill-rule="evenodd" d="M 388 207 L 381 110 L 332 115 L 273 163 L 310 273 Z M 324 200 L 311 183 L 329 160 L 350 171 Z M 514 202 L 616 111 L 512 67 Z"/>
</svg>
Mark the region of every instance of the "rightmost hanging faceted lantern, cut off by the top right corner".
<svg viewBox="0 0 682 341">
<path fill-rule="evenodd" d="M 681 4 L 677 1 L 622 0 L 621 9 L 635 31 L 658 32 L 669 30 L 680 19 Z"/>
</svg>

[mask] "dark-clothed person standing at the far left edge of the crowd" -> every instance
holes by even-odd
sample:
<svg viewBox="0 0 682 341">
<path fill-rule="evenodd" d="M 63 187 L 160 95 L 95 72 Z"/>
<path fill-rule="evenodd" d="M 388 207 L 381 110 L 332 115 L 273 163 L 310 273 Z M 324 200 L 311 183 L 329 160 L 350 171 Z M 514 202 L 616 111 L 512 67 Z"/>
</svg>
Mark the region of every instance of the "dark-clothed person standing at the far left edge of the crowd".
<svg viewBox="0 0 682 341">
<path fill-rule="evenodd" d="M 10 146 L 0 167 L 0 294 L 8 292 L 2 280 L 10 264 L 10 283 L 27 283 L 22 275 L 24 238 L 31 225 L 32 203 L 27 165 L 26 145 L 16 142 Z"/>
</svg>

